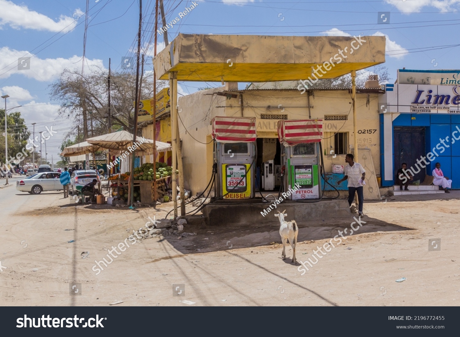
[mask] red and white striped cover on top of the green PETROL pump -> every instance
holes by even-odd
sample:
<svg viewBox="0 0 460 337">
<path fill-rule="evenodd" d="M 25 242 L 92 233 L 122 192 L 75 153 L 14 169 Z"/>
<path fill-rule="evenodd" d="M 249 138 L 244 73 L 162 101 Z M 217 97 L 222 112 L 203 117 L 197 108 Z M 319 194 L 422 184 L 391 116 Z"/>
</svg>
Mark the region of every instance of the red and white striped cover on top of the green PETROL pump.
<svg viewBox="0 0 460 337">
<path fill-rule="evenodd" d="M 279 120 L 278 138 L 285 146 L 322 140 L 322 120 Z"/>
</svg>

